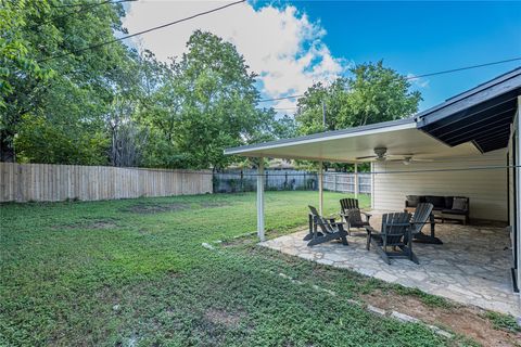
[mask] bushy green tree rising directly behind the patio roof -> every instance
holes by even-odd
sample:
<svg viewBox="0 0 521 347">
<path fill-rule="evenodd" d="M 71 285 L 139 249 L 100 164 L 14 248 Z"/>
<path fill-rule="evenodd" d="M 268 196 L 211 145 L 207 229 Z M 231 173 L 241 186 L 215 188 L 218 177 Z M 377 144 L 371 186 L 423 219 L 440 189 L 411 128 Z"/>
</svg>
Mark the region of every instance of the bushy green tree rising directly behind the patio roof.
<svg viewBox="0 0 521 347">
<path fill-rule="evenodd" d="M 329 87 L 316 83 L 298 100 L 295 120 L 301 134 L 399 119 L 418 111 L 420 92 L 409 91 L 406 77 L 384 67 L 381 61 L 357 65 L 351 74 Z"/>
</svg>

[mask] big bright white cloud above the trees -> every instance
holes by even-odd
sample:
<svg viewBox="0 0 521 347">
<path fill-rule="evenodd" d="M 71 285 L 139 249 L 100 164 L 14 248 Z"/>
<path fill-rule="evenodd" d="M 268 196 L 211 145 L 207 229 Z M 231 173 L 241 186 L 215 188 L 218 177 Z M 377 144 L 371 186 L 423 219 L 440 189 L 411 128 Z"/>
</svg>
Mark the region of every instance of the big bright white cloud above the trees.
<svg viewBox="0 0 521 347">
<path fill-rule="evenodd" d="M 223 1 L 131 2 L 124 20 L 129 33 L 182 18 L 219 7 Z M 208 30 L 232 42 L 244 55 L 251 70 L 259 75 L 266 98 L 301 94 L 316 81 L 332 80 L 344 70 L 345 62 L 334 57 L 322 42 L 326 30 L 313 23 L 295 7 L 266 5 L 255 10 L 249 3 L 194 18 L 171 27 L 142 35 L 139 44 L 153 51 L 160 60 L 180 56 L 195 29 Z M 294 106 L 283 101 L 275 106 Z"/>
</svg>

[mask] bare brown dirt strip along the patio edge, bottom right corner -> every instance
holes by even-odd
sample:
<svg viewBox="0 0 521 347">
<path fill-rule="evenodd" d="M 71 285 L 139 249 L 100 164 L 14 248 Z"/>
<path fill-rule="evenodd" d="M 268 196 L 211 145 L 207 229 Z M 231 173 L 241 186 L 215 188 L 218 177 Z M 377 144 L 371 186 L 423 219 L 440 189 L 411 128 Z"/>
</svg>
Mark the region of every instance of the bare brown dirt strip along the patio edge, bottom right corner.
<svg viewBox="0 0 521 347">
<path fill-rule="evenodd" d="M 432 307 L 414 296 L 384 294 L 381 291 L 373 291 L 361 298 L 378 308 L 395 310 L 424 323 L 447 327 L 483 346 L 521 346 L 521 334 L 494 329 L 492 322 L 483 317 L 484 311 L 478 308 L 456 305 L 450 308 Z"/>
</svg>

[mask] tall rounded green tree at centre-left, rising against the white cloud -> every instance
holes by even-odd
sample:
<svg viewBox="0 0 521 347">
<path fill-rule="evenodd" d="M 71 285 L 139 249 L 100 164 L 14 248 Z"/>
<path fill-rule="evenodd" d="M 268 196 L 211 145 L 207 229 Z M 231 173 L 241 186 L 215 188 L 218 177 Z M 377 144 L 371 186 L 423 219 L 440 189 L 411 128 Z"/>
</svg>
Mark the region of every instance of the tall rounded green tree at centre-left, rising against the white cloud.
<svg viewBox="0 0 521 347">
<path fill-rule="evenodd" d="M 196 30 L 188 52 L 175 62 L 177 73 L 168 88 L 176 118 L 176 143 L 194 168 L 224 168 L 233 158 L 223 151 L 241 145 L 269 129 L 274 114 L 255 108 L 255 75 L 236 47 L 219 37 Z"/>
</svg>

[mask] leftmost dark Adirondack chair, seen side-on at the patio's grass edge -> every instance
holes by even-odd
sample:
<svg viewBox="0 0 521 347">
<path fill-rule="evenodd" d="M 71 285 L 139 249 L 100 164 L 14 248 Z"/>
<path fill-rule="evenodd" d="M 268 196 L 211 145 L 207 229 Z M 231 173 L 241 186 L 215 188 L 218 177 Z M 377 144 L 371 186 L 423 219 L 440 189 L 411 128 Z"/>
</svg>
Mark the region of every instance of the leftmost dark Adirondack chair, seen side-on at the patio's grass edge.
<svg viewBox="0 0 521 347">
<path fill-rule="evenodd" d="M 344 230 L 343 222 L 336 222 L 334 218 L 326 219 L 319 215 L 315 207 L 308 207 L 314 219 L 313 233 L 306 236 L 309 240 L 308 247 L 333 240 L 341 240 L 343 245 L 348 245 L 347 232 Z"/>
</svg>

